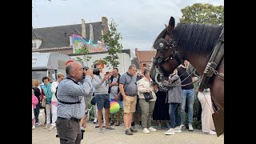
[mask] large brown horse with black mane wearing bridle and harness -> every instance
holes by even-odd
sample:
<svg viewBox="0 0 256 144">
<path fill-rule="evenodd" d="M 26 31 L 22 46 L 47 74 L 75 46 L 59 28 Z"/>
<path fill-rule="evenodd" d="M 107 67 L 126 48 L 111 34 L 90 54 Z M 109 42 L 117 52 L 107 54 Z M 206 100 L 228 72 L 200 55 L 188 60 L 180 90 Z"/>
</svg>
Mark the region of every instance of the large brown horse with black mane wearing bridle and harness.
<svg viewBox="0 0 256 144">
<path fill-rule="evenodd" d="M 174 27 L 174 24 L 174 18 L 170 17 L 169 25 L 154 41 L 157 53 L 150 75 L 154 81 L 162 83 L 184 60 L 190 62 L 196 72 L 205 78 L 205 85 L 201 85 L 201 81 L 199 91 L 210 87 L 211 98 L 218 106 L 213 119 L 219 136 L 224 133 L 224 26 L 178 23 Z M 215 49 L 222 51 L 222 54 Z M 214 58 L 217 62 L 210 62 Z"/>
</svg>

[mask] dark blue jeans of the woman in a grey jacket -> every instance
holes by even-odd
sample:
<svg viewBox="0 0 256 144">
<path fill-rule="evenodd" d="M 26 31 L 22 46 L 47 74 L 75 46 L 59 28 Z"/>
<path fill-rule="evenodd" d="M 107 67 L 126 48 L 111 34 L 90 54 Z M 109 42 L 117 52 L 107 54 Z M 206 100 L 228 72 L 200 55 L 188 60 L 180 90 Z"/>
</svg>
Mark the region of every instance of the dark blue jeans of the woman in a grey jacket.
<svg viewBox="0 0 256 144">
<path fill-rule="evenodd" d="M 170 128 L 174 128 L 175 124 L 179 119 L 178 119 L 178 103 L 170 103 L 169 106 L 169 114 L 170 114 Z"/>
</svg>

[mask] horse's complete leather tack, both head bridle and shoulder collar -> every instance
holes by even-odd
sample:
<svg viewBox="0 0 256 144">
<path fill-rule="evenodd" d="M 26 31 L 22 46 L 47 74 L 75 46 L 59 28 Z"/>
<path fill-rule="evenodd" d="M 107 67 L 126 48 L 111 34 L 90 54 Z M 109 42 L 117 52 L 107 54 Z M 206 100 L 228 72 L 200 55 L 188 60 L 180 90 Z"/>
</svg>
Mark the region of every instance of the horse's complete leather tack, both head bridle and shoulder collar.
<svg viewBox="0 0 256 144">
<path fill-rule="evenodd" d="M 162 54 L 166 52 L 166 50 L 171 49 L 172 53 L 167 57 L 163 58 L 162 55 L 158 56 L 157 58 L 153 58 L 153 63 L 156 65 L 155 70 L 155 81 L 158 82 L 158 74 L 160 74 L 160 78 L 163 77 L 162 70 L 160 69 L 160 66 L 164 64 L 165 62 L 169 61 L 170 59 L 175 59 L 177 62 L 177 66 L 182 64 L 184 61 L 180 55 L 178 54 L 178 51 L 175 49 L 178 42 L 174 42 L 173 39 L 169 38 L 168 41 L 166 41 L 165 38 L 159 38 L 157 42 L 154 43 L 154 49 L 159 50 Z M 218 73 L 216 67 L 218 66 L 219 62 L 222 60 L 224 56 L 224 27 L 222 29 L 222 32 L 219 36 L 217 44 L 214 46 L 214 52 L 211 54 L 210 60 L 207 63 L 206 69 L 204 70 L 204 73 L 202 75 L 202 81 L 200 82 L 199 91 L 202 91 L 208 87 L 210 78 L 213 77 L 213 74 L 217 74 L 218 77 L 222 78 L 224 80 L 224 74 Z M 177 67 L 176 66 L 176 67 Z M 159 84 L 159 82 L 158 82 Z"/>
</svg>

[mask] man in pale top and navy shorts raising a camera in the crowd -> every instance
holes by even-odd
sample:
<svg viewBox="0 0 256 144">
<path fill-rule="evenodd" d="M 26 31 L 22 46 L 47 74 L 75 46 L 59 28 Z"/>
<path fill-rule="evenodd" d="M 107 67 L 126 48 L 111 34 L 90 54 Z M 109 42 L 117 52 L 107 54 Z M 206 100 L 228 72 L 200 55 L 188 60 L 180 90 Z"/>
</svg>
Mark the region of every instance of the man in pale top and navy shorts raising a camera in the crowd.
<svg viewBox="0 0 256 144">
<path fill-rule="evenodd" d="M 96 63 L 94 68 L 102 69 L 100 63 Z M 109 84 L 110 84 L 110 75 L 109 74 L 94 74 L 94 78 L 92 80 L 92 84 L 95 89 L 95 100 L 98 108 L 98 126 L 99 132 L 103 133 L 102 128 L 102 109 L 105 108 L 105 120 L 106 120 L 106 129 L 114 130 L 114 128 L 110 127 L 109 123 L 109 115 L 110 115 L 110 94 L 109 91 Z"/>
</svg>

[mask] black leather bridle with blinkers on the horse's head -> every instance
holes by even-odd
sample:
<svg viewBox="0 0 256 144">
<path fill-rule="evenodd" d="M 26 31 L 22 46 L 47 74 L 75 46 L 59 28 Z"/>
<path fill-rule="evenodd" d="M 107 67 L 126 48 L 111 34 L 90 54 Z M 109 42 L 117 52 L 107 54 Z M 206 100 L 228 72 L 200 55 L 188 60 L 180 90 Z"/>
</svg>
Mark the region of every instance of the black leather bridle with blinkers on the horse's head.
<svg viewBox="0 0 256 144">
<path fill-rule="evenodd" d="M 166 39 L 164 38 L 159 38 L 157 42 L 154 42 L 154 49 L 160 51 L 162 54 L 165 54 L 166 50 L 168 49 L 172 50 L 171 54 L 166 58 L 163 58 L 162 55 L 156 58 L 153 58 L 153 63 L 155 64 L 155 70 L 156 70 L 156 74 L 155 74 L 156 82 L 158 82 L 158 74 L 160 75 L 160 79 L 164 78 L 164 74 L 166 74 L 165 70 L 162 69 L 162 65 L 165 62 L 168 62 L 169 60 L 174 58 L 177 62 L 177 66 L 179 66 L 184 61 L 178 54 L 178 51 L 175 49 L 177 44 L 178 42 L 174 42 L 171 38 L 169 38 L 168 41 L 166 41 Z M 161 83 L 158 82 L 158 84 L 161 84 Z"/>
</svg>

